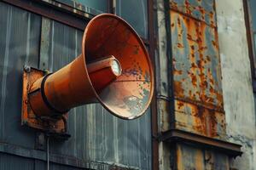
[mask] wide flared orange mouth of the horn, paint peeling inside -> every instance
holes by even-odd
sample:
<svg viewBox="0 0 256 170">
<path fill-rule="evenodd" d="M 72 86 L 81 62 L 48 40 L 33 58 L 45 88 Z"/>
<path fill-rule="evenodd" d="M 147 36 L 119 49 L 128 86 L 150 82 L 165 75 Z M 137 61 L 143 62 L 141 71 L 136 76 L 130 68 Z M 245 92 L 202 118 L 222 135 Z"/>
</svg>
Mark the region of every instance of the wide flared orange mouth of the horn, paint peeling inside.
<svg viewBox="0 0 256 170">
<path fill-rule="evenodd" d="M 99 14 L 85 28 L 82 54 L 84 65 L 114 56 L 110 63 L 114 76 L 111 82 L 106 80 L 106 77 L 112 77 L 107 70 L 108 76 L 97 79 L 96 74 L 90 74 L 88 65 L 87 69 L 85 66 L 96 99 L 122 119 L 142 116 L 153 97 L 154 73 L 147 49 L 136 31 L 114 14 Z M 96 79 L 99 81 L 93 82 Z M 106 86 L 99 87 L 101 83 Z"/>
</svg>

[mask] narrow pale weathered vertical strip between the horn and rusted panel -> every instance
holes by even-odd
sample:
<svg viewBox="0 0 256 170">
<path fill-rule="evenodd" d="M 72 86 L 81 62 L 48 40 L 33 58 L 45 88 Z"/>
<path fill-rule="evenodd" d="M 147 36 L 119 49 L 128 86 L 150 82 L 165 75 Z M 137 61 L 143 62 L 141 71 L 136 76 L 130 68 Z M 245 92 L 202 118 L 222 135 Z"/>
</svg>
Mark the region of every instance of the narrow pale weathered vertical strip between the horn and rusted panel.
<svg viewBox="0 0 256 170">
<path fill-rule="evenodd" d="M 166 132 L 170 129 L 170 105 L 168 84 L 168 59 L 166 38 L 166 17 L 164 0 L 155 0 L 157 17 L 157 46 L 155 53 L 156 95 L 158 102 L 158 130 Z M 159 168 L 171 170 L 171 146 L 160 142 Z"/>
</svg>

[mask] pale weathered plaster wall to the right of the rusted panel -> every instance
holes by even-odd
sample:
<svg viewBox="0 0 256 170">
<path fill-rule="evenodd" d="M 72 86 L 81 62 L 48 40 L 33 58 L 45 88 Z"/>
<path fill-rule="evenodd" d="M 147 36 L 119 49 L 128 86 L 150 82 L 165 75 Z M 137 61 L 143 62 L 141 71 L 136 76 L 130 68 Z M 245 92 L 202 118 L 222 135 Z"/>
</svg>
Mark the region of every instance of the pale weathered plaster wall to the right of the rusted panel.
<svg viewBox="0 0 256 170">
<path fill-rule="evenodd" d="M 230 160 L 234 169 L 256 169 L 255 114 L 242 0 L 216 0 L 224 110 L 230 142 L 243 155 Z M 254 151 L 253 151 L 254 150 Z"/>
</svg>

